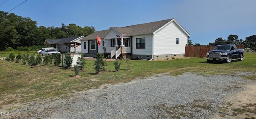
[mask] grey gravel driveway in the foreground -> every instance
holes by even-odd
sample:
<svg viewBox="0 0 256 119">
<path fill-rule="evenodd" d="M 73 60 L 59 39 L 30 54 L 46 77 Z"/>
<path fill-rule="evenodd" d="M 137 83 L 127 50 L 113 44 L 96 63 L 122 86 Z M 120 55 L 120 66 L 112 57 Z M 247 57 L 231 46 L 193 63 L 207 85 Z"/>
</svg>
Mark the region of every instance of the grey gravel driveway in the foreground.
<svg viewBox="0 0 256 119">
<path fill-rule="evenodd" d="M 148 119 L 211 118 L 223 100 L 244 90 L 234 76 L 157 75 L 128 83 L 104 85 L 66 98 L 23 103 L 10 118 Z M 7 116 L 6 116 L 7 117 Z"/>
</svg>

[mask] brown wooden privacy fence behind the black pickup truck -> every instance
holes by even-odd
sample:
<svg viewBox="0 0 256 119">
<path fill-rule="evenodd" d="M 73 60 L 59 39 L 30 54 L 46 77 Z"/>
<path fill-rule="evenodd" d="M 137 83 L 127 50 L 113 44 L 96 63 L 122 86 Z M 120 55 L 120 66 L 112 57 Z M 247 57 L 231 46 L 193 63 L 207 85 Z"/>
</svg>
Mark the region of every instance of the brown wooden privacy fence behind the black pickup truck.
<svg viewBox="0 0 256 119">
<path fill-rule="evenodd" d="M 244 45 L 237 45 L 238 49 L 244 49 Z M 213 46 L 191 46 L 185 47 L 185 57 L 206 57 L 206 53 L 213 49 Z"/>
</svg>

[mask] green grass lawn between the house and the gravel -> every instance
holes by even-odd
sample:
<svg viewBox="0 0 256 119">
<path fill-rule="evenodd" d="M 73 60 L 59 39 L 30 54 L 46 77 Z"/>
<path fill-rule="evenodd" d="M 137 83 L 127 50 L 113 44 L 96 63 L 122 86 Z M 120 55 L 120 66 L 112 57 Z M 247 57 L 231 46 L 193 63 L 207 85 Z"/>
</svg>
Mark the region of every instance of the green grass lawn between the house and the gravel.
<svg viewBox="0 0 256 119">
<path fill-rule="evenodd" d="M 0 53 L 0 56 L 6 56 Z M 7 57 L 9 54 L 7 55 Z M 94 60 L 86 60 L 84 72 L 74 76 L 74 69 L 64 69 L 53 65 L 30 67 L 28 64 L 0 60 L 0 108 L 2 105 L 18 101 L 32 101 L 55 98 L 67 94 L 97 88 L 101 84 L 129 82 L 136 78 L 145 78 L 154 74 L 177 76 L 184 72 L 203 75 L 235 75 L 236 72 L 252 72 L 242 76 L 255 80 L 256 53 L 246 53 L 244 60 L 231 63 L 207 63 L 205 58 L 184 58 L 164 61 L 132 60 L 131 70 L 126 70 L 125 61 L 116 72 L 114 61 L 108 61 L 108 70 L 94 75 Z"/>
</svg>

